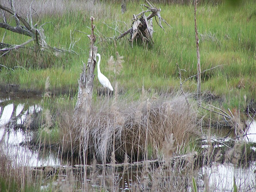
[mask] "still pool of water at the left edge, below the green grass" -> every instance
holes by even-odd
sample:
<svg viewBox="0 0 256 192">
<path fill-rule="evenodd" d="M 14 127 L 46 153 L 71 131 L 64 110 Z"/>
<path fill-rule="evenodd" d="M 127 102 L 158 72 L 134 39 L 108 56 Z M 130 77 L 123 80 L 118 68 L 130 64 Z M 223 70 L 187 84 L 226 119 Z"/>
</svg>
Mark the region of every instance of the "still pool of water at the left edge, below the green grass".
<svg viewBox="0 0 256 192">
<path fill-rule="evenodd" d="M 36 98 L 38 101 L 39 98 Z M 33 98 L 35 100 L 35 98 Z M 17 166 L 54 166 L 59 165 L 56 151 L 29 148 L 26 143 L 35 132 L 22 130 L 17 125 L 23 124 L 29 113 L 38 113 L 42 108 L 35 102 L 22 100 L 15 102 L 12 98 L 0 98 L 0 144 L 4 153 L 12 157 Z"/>
</svg>

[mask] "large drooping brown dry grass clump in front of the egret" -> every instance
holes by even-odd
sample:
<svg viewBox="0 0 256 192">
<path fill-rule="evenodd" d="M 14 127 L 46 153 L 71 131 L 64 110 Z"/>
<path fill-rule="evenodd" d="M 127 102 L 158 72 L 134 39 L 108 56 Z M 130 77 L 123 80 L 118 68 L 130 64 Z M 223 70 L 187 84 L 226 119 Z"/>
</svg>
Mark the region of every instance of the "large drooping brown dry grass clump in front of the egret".
<svg viewBox="0 0 256 192">
<path fill-rule="evenodd" d="M 86 119 L 66 111 L 57 121 L 64 151 L 84 152 L 106 163 L 112 151 L 118 161 L 125 154 L 135 161 L 156 158 L 171 134 L 174 145 L 185 143 L 196 133 L 196 115 L 184 96 L 127 103 L 116 95 L 93 103 Z"/>
</svg>

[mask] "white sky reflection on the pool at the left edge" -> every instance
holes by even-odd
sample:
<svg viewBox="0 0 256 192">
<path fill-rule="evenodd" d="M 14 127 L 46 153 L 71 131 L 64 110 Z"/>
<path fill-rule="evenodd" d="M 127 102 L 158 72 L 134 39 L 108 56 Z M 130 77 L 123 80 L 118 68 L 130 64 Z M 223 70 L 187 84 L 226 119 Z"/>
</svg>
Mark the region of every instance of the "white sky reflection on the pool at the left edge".
<svg viewBox="0 0 256 192">
<path fill-rule="evenodd" d="M 0 103 L 5 100 L 0 100 Z M 22 132 L 21 130 L 14 131 L 13 129 L 7 131 L 5 125 L 10 121 L 11 117 L 19 116 L 17 124 L 22 124 L 28 113 L 39 112 L 42 109 L 38 105 L 32 105 L 25 110 L 24 106 L 24 103 L 18 104 L 16 111 L 14 111 L 15 109 L 13 104 L 0 107 L 0 112 L 2 112 L 0 117 L 0 140 L 3 141 L 1 147 L 4 148 L 4 151 L 8 156 L 15 160 L 18 166 L 59 165 L 60 160 L 53 155 L 53 153 L 46 151 L 43 153 L 41 150 L 39 154 L 38 151 L 30 150 L 26 146 L 20 146 L 20 143 L 30 140 L 32 132 Z"/>
</svg>

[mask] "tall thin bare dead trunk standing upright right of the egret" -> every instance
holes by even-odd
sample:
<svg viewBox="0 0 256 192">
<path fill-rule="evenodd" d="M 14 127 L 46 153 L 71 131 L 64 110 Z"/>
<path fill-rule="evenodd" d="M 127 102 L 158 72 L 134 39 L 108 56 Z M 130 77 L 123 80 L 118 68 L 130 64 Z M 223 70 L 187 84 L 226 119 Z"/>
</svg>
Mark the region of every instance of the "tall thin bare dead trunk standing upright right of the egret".
<svg viewBox="0 0 256 192">
<path fill-rule="evenodd" d="M 196 54 L 197 54 L 197 103 L 202 107 L 202 93 L 201 93 L 201 65 L 200 65 L 200 53 L 199 53 L 199 39 L 196 27 L 196 3 L 197 0 L 194 0 L 195 4 L 195 33 L 196 33 Z"/>
</svg>

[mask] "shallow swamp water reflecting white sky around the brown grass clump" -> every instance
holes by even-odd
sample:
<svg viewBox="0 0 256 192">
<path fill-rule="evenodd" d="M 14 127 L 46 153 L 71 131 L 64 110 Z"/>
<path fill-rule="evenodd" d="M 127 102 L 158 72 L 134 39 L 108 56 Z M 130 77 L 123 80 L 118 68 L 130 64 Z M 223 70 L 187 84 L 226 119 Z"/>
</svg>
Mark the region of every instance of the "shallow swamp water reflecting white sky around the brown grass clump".
<svg viewBox="0 0 256 192">
<path fill-rule="evenodd" d="M 10 156 L 16 164 L 28 167 L 39 166 L 65 166 L 71 164 L 67 159 L 59 158 L 58 151 L 50 149 L 31 148 L 26 143 L 31 140 L 35 131 L 22 130 L 18 125 L 23 124 L 29 113 L 42 110 L 40 105 L 41 97 L 32 99 L 20 99 L 6 97 L 0 98 L 0 145 L 4 148 L 4 153 Z M 217 135 L 212 137 L 217 138 Z M 250 142 L 256 142 L 256 122 L 252 121 L 248 129 L 246 138 Z M 221 146 L 220 146 L 221 147 Z M 256 147 L 251 147 L 256 151 Z M 74 167 L 74 166 L 73 166 Z M 81 166 L 82 167 L 82 166 Z M 135 172 L 135 173 L 134 173 Z M 136 170 L 130 171 L 130 176 L 116 172 L 115 176 L 108 175 L 108 178 L 119 183 L 119 191 L 131 190 L 132 182 L 137 182 Z M 203 166 L 197 177 L 197 183 L 204 185 L 204 175 L 208 176 L 209 188 L 211 191 L 233 191 L 234 181 L 237 186 L 243 186 L 248 191 L 256 191 L 256 162 L 250 162 L 244 168 L 236 167 L 233 164 L 215 164 Z M 95 176 L 101 182 L 96 182 L 92 187 L 100 187 L 102 184 L 102 174 Z M 87 178 L 90 180 L 90 178 Z M 62 181 L 65 181 L 62 180 Z M 101 183 L 101 184 L 100 184 Z M 104 183 L 104 182 L 103 182 Z M 200 184 L 201 183 L 201 184 Z M 43 185 L 42 189 L 47 188 Z M 200 188 L 200 187 L 199 187 Z M 193 191 L 191 188 L 189 191 Z"/>
</svg>

